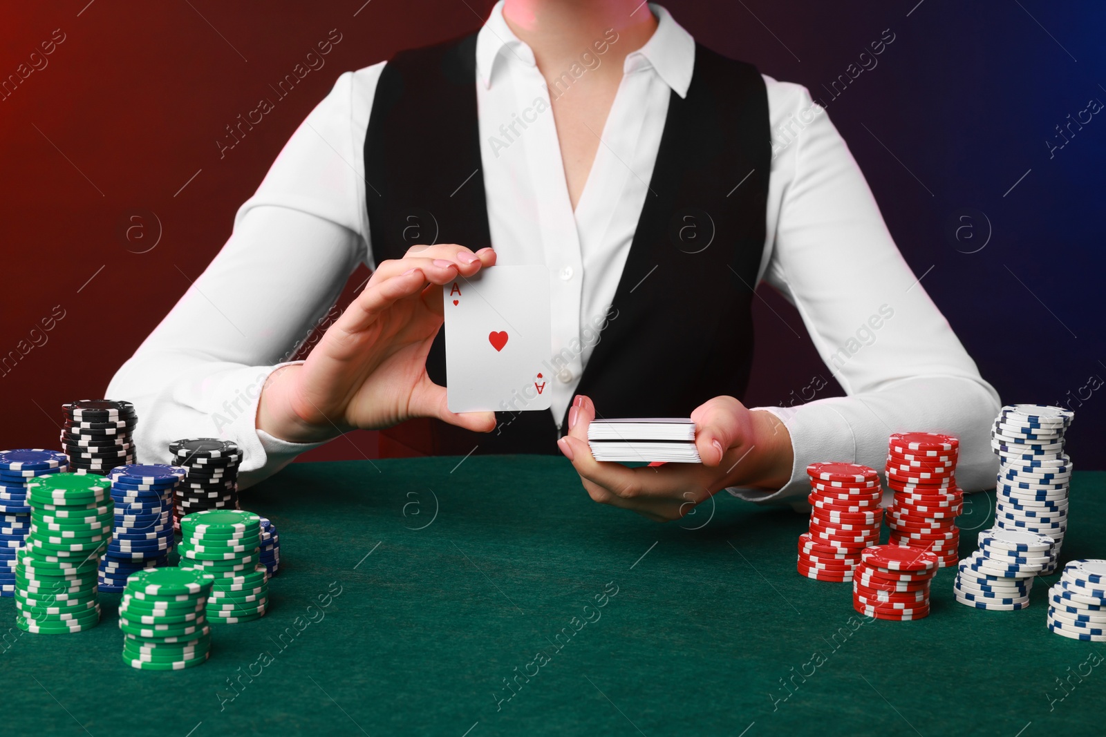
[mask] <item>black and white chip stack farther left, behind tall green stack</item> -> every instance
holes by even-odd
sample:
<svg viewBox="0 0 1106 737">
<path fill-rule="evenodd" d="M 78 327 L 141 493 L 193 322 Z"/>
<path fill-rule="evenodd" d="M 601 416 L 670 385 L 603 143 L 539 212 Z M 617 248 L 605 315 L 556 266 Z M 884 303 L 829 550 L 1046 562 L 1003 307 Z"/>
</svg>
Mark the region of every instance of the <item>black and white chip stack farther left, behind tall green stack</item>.
<svg viewBox="0 0 1106 737">
<path fill-rule="evenodd" d="M 62 404 L 62 451 L 70 471 L 101 476 L 116 466 L 137 463 L 133 433 L 138 424 L 134 404 L 123 400 L 81 399 Z"/>
</svg>

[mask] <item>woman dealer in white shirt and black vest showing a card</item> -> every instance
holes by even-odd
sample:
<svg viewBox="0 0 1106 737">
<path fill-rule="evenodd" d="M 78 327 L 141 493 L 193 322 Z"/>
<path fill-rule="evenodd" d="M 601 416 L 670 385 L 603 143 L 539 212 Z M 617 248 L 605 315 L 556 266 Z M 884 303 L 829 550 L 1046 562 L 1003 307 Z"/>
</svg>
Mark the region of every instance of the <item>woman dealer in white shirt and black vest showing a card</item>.
<svg viewBox="0 0 1106 737">
<path fill-rule="evenodd" d="M 440 285 L 497 261 L 550 269 L 557 369 L 550 412 L 498 423 L 449 412 L 436 341 Z M 365 288 L 286 361 L 359 263 Z M 847 397 L 737 399 L 761 281 Z M 638 0 L 501 0 L 477 34 L 342 74 L 108 396 L 138 408 L 145 457 L 229 438 L 247 484 L 345 431 L 434 418 L 427 452 L 561 452 L 592 498 L 654 519 L 722 488 L 801 503 L 808 463 L 881 467 L 901 430 L 960 436 L 958 480 L 984 488 L 999 409 L 807 91 Z M 702 463 L 596 463 L 597 411 L 690 413 Z"/>
</svg>

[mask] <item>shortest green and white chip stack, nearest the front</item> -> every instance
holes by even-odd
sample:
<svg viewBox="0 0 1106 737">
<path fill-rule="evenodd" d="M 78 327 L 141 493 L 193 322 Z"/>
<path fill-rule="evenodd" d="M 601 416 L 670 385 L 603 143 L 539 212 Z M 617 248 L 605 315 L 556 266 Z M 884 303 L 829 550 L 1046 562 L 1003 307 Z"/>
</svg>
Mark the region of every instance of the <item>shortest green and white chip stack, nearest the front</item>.
<svg viewBox="0 0 1106 737">
<path fill-rule="evenodd" d="M 123 662 L 140 671 L 180 671 L 207 662 L 206 610 L 213 577 L 191 568 L 132 573 L 119 603 Z"/>
</svg>

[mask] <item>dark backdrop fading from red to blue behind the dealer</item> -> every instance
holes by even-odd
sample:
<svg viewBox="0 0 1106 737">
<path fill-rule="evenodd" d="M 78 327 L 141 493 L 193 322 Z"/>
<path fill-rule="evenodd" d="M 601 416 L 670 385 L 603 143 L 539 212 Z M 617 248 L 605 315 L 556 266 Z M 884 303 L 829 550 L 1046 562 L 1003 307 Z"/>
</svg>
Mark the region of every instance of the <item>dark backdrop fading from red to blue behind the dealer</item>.
<svg viewBox="0 0 1106 737">
<path fill-rule="evenodd" d="M 342 71 L 474 30 L 492 4 L 363 2 L 75 0 L 8 10 L 0 77 L 18 74 L 54 29 L 64 41 L 44 69 L 0 95 L 0 355 L 25 350 L 55 305 L 64 318 L 44 345 L 0 371 L 0 446 L 56 445 L 60 404 L 103 393 L 221 248 L 238 206 Z M 668 8 L 706 45 L 822 98 L 899 248 L 983 376 L 1004 401 L 1075 409 L 1071 454 L 1079 467 L 1106 467 L 1106 387 L 1092 389 L 1106 377 L 1106 115 L 1073 126 L 1051 158 L 1045 143 L 1088 99 L 1106 101 L 1106 7 L 695 0 Z M 215 141 L 225 126 L 331 29 L 342 41 L 326 65 L 220 159 Z M 877 66 L 833 98 L 823 85 L 858 64 L 885 29 L 895 41 Z M 131 215 L 142 218 L 145 240 L 125 238 Z M 136 253 L 155 241 L 158 223 L 156 248 Z M 960 241 L 949 223 L 966 225 Z M 771 289 L 760 294 L 747 399 L 787 404 L 830 372 L 797 313 Z M 832 393 L 839 393 L 833 382 L 817 396 Z M 307 457 L 377 452 L 375 433 L 354 433 Z"/>
</svg>

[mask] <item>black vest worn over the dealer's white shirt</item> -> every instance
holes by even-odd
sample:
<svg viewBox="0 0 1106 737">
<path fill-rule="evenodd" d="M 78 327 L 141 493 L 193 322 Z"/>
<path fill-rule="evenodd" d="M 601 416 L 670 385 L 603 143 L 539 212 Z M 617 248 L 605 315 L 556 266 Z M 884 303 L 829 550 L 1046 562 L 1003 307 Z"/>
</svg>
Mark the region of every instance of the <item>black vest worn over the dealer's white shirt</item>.
<svg viewBox="0 0 1106 737">
<path fill-rule="evenodd" d="M 611 319 L 577 389 L 601 417 L 687 417 L 711 397 L 742 397 L 749 381 L 771 162 L 768 93 L 752 65 L 699 44 L 695 53 L 687 97 L 670 94 Z M 365 136 L 377 263 L 417 243 L 492 245 L 476 84 L 476 34 L 385 65 Z M 427 370 L 446 383 L 441 334 Z M 437 420 L 384 432 L 435 455 L 559 452 L 550 412 L 497 418 L 487 435 Z"/>
</svg>

